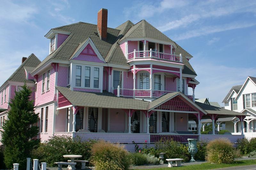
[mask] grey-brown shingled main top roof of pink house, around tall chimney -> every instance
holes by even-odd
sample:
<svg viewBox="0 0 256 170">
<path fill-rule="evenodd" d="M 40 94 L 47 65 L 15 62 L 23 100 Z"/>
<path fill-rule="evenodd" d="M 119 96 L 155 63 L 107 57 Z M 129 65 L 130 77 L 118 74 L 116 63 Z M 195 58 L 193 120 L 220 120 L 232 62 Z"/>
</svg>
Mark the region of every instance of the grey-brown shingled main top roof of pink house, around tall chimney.
<svg viewBox="0 0 256 170">
<path fill-rule="evenodd" d="M 152 39 L 161 39 L 164 41 L 175 43 L 169 39 L 162 32 L 157 30 L 154 26 L 149 24 L 146 20 L 142 20 L 137 24 L 133 24 L 130 20 L 126 21 L 122 25 L 114 28 L 107 29 L 107 40 L 101 40 L 97 31 L 97 25 L 78 22 L 70 25 L 64 25 L 61 27 L 53 28 L 52 30 L 69 32 L 71 33 L 68 38 L 55 50 L 53 53 L 48 55 L 37 68 L 42 66 L 45 62 L 50 59 L 56 60 L 69 60 L 70 57 L 76 52 L 79 47 L 88 39 L 91 38 L 92 42 L 99 50 L 100 54 L 107 63 L 119 64 L 129 66 L 127 60 L 121 50 L 118 42 L 124 38 L 131 37 L 146 37 Z M 181 48 L 177 43 L 176 52 L 182 54 L 184 69 L 183 74 L 196 75 L 196 72 L 190 65 L 186 56 L 192 57 L 187 51 Z M 35 69 L 35 70 L 36 70 Z"/>
</svg>

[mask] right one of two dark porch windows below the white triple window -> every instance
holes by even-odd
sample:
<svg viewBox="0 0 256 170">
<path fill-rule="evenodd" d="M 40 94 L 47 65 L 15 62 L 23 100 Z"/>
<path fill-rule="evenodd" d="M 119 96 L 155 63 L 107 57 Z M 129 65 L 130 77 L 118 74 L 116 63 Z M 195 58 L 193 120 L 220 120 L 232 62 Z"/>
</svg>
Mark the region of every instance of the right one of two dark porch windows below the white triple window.
<svg viewBox="0 0 256 170">
<path fill-rule="evenodd" d="M 98 128 L 98 108 L 89 107 L 88 130 L 91 132 L 97 132 L 97 128 Z"/>
</svg>

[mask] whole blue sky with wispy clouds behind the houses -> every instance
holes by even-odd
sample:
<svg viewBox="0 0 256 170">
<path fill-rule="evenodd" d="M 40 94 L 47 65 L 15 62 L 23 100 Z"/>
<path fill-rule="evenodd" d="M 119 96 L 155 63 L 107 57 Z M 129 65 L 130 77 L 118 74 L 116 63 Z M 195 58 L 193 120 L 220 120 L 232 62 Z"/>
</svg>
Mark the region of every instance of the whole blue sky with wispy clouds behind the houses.
<svg viewBox="0 0 256 170">
<path fill-rule="evenodd" d="M 44 35 L 79 21 L 97 24 L 108 9 L 108 27 L 146 19 L 194 56 L 190 60 L 200 85 L 196 98 L 221 103 L 233 85 L 256 77 L 256 1 L 3 1 L 0 0 L 0 84 L 31 53 L 49 53 Z M 189 88 L 191 89 L 191 88 Z"/>
</svg>

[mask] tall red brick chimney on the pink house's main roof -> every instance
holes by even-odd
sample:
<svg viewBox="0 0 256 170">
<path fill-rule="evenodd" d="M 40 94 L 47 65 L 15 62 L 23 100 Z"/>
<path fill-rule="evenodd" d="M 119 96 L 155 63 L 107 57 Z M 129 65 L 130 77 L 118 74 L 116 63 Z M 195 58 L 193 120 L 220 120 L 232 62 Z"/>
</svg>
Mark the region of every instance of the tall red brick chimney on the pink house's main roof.
<svg viewBox="0 0 256 170">
<path fill-rule="evenodd" d="M 108 10 L 102 8 L 98 11 L 97 30 L 100 34 L 100 39 L 107 40 L 107 27 L 108 27 Z"/>
</svg>

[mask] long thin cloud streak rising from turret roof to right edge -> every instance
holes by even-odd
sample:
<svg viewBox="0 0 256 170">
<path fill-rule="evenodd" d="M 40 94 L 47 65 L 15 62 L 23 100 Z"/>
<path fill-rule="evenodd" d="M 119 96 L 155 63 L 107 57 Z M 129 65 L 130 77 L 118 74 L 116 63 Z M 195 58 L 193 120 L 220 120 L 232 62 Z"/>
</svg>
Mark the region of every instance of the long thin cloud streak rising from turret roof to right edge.
<svg viewBox="0 0 256 170">
<path fill-rule="evenodd" d="M 198 37 L 202 35 L 208 35 L 212 34 L 215 32 L 223 32 L 223 31 L 228 31 L 228 30 L 234 30 L 234 29 L 239 29 L 239 28 L 246 28 L 246 27 L 251 27 L 256 25 L 255 23 L 241 23 L 241 22 L 236 22 L 236 23 L 230 23 L 226 25 L 215 25 L 215 26 L 205 26 L 199 29 L 195 30 L 190 30 L 185 33 L 182 33 L 173 39 L 177 40 L 182 40 L 182 39 L 189 39 L 193 37 Z"/>
</svg>

